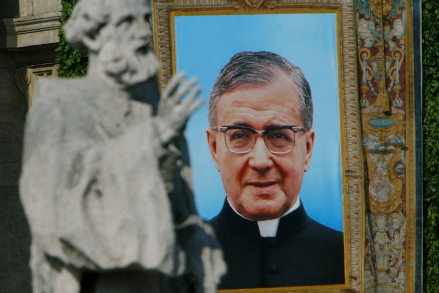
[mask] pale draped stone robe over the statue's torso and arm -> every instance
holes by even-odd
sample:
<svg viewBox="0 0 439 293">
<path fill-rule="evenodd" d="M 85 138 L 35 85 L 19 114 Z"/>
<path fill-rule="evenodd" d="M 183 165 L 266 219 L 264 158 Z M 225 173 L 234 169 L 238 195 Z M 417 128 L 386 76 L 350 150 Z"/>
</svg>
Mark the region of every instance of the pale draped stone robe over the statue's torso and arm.
<svg viewBox="0 0 439 293">
<path fill-rule="evenodd" d="M 151 106 L 126 95 L 92 77 L 38 81 L 20 179 L 33 271 L 53 258 L 182 272 Z"/>
</svg>

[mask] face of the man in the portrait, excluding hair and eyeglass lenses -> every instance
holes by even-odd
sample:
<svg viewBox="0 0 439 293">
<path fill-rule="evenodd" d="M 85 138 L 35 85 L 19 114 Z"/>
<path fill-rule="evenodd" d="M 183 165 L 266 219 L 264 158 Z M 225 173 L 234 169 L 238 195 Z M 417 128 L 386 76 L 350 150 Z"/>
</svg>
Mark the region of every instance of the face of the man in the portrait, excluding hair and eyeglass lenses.
<svg viewBox="0 0 439 293">
<path fill-rule="evenodd" d="M 303 127 L 299 104 L 291 78 L 280 74 L 268 86 L 223 94 L 216 108 L 216 126 L 242 125 L 256 130 L 277 125 Z M 232 153 L 224 136 L 224 132 L 207 130 L 213 162 L 232 206 L 251 220 L 281 217 L 296 202 L 310 166 L 314 130 L 297 132 L 293 149 L 285 154 L 271 153 L 259 135 L 249 153 Z"/>
</svg>

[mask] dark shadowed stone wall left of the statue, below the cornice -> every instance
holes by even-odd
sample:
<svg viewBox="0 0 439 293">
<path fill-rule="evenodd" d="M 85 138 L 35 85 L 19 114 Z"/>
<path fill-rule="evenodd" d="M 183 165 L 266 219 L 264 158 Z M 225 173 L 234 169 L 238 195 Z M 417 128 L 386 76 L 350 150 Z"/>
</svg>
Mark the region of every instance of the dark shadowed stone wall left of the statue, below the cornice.
<svg viewBox="0 0 439 293">
<path fill-rule="evenodd" d="M 3 37 L 0 32 L 0 39 Z M 17 73 L 26 68 L 39 73 L 53 67 L 54 48 L 0 50 L 0 293 L 32 292 L 31 233 L 18 193 L 29 98 L 24 89 L 30 85 L 29 80 L 17 80 Z"/>
</svg>

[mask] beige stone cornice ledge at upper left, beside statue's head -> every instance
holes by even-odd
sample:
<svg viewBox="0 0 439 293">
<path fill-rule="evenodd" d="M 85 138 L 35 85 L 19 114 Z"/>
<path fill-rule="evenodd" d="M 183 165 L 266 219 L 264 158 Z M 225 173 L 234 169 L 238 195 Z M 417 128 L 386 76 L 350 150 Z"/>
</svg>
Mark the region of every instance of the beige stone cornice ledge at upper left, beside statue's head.
<svg viewBox="0 0 439 293">
<path fill-rule="evenodd" d="M 0 48 L 59 42 L 60 12 L 0 19 Z"/>
</svg>

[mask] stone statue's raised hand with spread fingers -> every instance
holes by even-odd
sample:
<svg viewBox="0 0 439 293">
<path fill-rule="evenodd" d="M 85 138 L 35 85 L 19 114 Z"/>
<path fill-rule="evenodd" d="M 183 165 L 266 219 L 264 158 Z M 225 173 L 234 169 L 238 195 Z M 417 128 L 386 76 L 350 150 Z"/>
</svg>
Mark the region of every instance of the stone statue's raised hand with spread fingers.
<svg viewBox="0 0 439 293">
<path fill-rule="evenodd" d="M 195 101 L 201 92 L 201 87 L 195 87 L 197 78 L 186 82 L 185 77 L 184 71 L 174 75 L 160 97 L 157 122 L 162 144 L 182 134 L 190 115 L 204 102 L 203 99 Z"/>
</svg>

